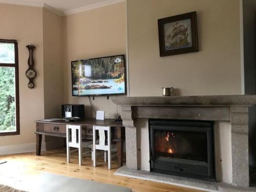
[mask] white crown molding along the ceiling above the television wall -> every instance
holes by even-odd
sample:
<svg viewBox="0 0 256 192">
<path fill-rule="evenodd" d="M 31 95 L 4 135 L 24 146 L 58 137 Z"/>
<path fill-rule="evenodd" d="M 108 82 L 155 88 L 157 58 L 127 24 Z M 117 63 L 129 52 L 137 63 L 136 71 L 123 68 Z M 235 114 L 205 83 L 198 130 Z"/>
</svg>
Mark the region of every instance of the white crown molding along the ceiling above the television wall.
<svg viewBox="0 0 256 192">
<path fill-rule="evenodd" d="M 74 14 L 74 13 L 79 13 L 79 12 L 82 12 L 82 11 L 96 9 L 96 8 L 99 8 L 99 7 L 104 7 L 104 6 L 108 6 L 108 5 L 112 5 L 112 4 L 116 4 L 116 3 L 120 3 L 120 2 L 124 2 L 124 1 L 126 1 L 126 0 L 108 0 L 108 1 L 105 1 L 105 2 L 102 2 L 102 3 L 97 3 L 97 4 L 88 5 L 88 6 L 80 7 L 80 8 L 77 8 L 77 9 L 72 9 L 72 10 L 69 10 L 69 11 L 65 11 L 64 15 L 71 15 L 71 14 Z"/>
</svg>

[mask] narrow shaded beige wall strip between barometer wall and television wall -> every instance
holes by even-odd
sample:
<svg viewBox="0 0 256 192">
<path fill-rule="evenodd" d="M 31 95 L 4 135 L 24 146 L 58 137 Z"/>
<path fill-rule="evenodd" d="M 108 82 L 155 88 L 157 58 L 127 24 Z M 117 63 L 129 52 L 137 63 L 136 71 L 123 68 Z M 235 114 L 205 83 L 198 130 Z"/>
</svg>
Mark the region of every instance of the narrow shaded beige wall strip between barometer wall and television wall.
<svg viewBox="0 0 256 192">
<path fill-rule="evenodd" d="M 62 104 L 62 17 L 46 9 L 43 15 L 45 118 L 60 117 Z"/>
</svg>

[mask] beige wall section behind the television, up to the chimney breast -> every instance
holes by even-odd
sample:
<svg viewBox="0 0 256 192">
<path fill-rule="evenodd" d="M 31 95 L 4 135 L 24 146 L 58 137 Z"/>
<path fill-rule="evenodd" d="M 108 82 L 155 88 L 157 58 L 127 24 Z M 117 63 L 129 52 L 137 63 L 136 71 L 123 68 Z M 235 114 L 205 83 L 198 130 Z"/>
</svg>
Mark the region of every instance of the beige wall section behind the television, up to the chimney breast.
<svg viewBox="0 0 256 192">
<path fill-rule="evenodd" d="M 71 92 L 71 61 L 125 54 L 125 3 L 117 3 L 63 18 L 63 96 L 66 103 L 86 105 L 90 117 L 88 97 L 73 97 Z M 97 110 L 116 118 L 116 105 L 105 96 L 95 97 Z"/>
</svg>

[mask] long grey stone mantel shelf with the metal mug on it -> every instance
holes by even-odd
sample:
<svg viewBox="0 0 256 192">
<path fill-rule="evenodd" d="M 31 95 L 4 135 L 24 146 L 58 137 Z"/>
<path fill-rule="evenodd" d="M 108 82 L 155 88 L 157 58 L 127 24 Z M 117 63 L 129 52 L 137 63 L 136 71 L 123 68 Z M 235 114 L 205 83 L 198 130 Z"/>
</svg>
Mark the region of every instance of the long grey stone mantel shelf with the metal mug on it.
<svg viewBox="0 0 256 192">
<path fill-rule="evenodd" d="M 212 96 L 170 96 L 170 97 L 114 97 L 118 105 L 204 105 L 204 106 L 250 106 L 256 104 L 256 95 L 212 95 Z"/>
</svg>

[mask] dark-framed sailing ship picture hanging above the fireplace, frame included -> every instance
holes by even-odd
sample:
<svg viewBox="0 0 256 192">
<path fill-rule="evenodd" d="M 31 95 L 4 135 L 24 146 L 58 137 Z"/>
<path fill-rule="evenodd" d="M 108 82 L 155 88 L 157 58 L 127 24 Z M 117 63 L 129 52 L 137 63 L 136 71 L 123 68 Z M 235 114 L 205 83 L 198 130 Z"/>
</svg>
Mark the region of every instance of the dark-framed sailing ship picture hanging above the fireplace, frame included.
<svg viewBox="0 0 256 192">
<path fill-rule="evenodd" d="M 197 12 L 158 19 L 160 57 L 198 51 Z"/>
</svg>

